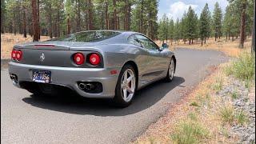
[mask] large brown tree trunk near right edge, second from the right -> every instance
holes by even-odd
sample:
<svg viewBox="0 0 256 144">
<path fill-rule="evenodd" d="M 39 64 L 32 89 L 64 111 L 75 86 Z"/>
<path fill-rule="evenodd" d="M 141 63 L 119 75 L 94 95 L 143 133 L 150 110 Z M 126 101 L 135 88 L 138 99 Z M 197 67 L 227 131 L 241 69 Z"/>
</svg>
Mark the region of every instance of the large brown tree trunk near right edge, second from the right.
<svg viewBox="0 0 256 144">
<path fill-rule="evenodd" d="M 240 48 L 243 48 L 243 43 L 245 42 L 245 28 L 246 28 L 246 1 L 242 4 L 242 14 L 241 14 L 241 27 L 240 27 Z"/>
</svg>

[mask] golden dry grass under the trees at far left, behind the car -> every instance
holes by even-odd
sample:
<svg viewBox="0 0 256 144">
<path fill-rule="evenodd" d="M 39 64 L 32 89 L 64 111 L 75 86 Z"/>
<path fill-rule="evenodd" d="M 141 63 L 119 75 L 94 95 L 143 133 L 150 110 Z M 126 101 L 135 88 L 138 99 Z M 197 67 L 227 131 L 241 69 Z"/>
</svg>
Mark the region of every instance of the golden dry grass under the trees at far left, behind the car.
<svg viewBox="0 0 256 144">
<path fill-rule="evenodd" d="M 18 43 L 32 42 L 32 37 L 27 34 L 27 38 L 23 38 L 22 34 L 1 34 L 1 59 L 10 58 L 10 52 L 13 49 L 13 46 Z M 49 39 L 47 36 L 41 36 L 41 41 Z"/>
</svg>

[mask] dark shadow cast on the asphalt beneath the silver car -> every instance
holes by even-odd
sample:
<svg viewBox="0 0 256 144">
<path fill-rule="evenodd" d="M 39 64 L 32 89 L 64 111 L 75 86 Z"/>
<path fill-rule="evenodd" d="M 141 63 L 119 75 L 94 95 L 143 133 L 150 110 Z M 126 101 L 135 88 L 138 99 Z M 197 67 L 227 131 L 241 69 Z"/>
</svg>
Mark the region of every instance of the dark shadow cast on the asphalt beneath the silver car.
<svg viewBox="0 0 256 144">
<path fill-rule="evenodd" d="M 112 106 L 112 102 L 109 99 L 82 98 L 75 94 L 59 96 L 38 96 L 32 94 L 28 98 L 22 98 L 22 101 L 42 109 L 69 114 L 123 116 L 134 114 L 153 106 L 170 90 L 180 86 L 183 82 L 185 82 L 185 79 L 182 77 L 174 77 L 172 82 L 163 82 L 162 80 L 154 82 L 142 90 L 138 90 L 134 101 L 126 108 Z"/>
</svg>

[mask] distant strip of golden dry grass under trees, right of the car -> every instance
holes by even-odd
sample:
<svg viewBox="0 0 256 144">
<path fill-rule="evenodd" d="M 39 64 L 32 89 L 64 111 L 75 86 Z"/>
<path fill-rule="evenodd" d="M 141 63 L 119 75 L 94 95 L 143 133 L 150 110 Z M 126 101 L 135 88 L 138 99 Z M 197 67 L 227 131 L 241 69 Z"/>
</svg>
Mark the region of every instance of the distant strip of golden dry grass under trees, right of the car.
<svg viewBox="0 0 256 144">
<path fill-rule="evenodd" d="M 162 42 L 157 41 L 156 42 L 158 46 L 162 45 Z M 168 40 L 169 45 L 170 41 Z M 188 42 L 184 44 L 182 40 L 180 42 L 173 42 L 173 45 L 170 46 L 171 50 L 178 49 L 178 48 L 190 48 L 190 49 L 197 49 L 197 50 L 218 50 L 222 51 L 223 53 L 231 56 L 231 57 L 238 57 L 241 52 L 247 51 L 250 52 L 250 46 L 251 46 L 251 38 L 247 38 L 246 42 L 244 43 L 244 48 L 240 49 L 239 47 L 239 39 L 235 39 L 234 42 L 231 40 L 226 40 L 226 38 L 220 38 L 217 39 L 215 42 L 214 38 L 209 38 L 206 40 L 206 44 L 203 44 L 201 46 L 201 41 L 198 39 L 198 41 L 195 41 L 194 44 L 189 45 Z"/>
</svg>

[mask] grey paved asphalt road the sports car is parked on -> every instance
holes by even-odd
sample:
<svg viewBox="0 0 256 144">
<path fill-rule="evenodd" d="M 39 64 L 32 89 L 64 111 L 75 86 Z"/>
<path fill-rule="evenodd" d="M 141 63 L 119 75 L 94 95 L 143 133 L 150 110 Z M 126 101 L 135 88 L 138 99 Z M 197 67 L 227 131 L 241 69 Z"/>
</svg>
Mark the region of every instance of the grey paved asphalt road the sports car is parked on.
<svg viewBox="0 0 256 144">
<path fill-rule="evenodd" d="M 1 70 L 2 143 L 127 143 L 182 98 L 209 73 L 226 62 L 216 51 L 179 49 L 174 81 L 156 82 L 138 91 L 131 106 L 116 109 L 104 100 L 69 96 L 37 97 L 12 86 Z M 184 94 L 183 94 L 184 96 Z"/>
</svg>

